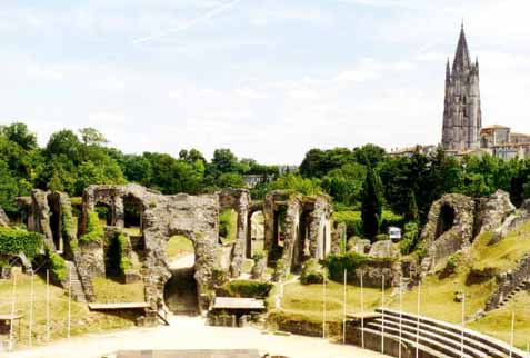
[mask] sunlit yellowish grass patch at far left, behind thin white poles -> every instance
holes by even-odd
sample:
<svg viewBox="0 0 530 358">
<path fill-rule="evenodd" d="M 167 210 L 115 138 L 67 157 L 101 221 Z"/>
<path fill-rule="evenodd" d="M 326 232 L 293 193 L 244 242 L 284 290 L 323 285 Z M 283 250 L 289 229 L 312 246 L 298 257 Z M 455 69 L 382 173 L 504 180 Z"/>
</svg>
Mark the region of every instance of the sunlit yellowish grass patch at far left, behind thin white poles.
<svg viewBox="0 0 530 358">
<path fill-rule="evenodd" d="M 16 310 L 24 317 L 14 326 L 18 347 L 29 342 L 31 277 L 17 274 Z M 67 337 L 68 296 L 62 288 L 50 286 L 50 337 L 59 339 Z M 33 345 L 46 341 L 46 280 L 34 277 L 33 282 Z M 11 314 L 12 280 L 0 280 L 0 314 Z M 134 326 L 132 316 L 114 316 L 93 312 L 83 304 L 71 302 L 71 335 L 97 332 Z M 20 331 L 19 331 L 20 329 Z M 0 338 L 1 339 L 1 338 Z"/>
</svg>

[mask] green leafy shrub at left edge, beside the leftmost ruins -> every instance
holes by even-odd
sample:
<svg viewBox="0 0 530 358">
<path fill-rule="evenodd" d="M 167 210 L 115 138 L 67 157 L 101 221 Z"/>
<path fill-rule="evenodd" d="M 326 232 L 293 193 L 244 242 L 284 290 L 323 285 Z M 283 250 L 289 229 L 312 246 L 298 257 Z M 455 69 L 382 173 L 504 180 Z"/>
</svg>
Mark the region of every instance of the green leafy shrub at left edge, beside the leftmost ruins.
<svg viewBox="0 0 530 358">
<path fill-rule="evenodd" d="M 0 228 L 0 253 L 19 255 L 23 252 L 28 259 L 42 252 L 44 237 L 41 233 L 18 228 Z"/>
</svg>

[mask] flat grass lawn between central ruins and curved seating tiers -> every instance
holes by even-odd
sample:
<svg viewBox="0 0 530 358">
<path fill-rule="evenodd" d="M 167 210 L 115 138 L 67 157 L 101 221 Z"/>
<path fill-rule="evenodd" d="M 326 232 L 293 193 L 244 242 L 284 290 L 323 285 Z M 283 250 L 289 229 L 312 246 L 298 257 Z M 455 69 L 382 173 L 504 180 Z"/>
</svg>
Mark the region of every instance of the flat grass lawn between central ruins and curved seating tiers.
<svg viewBox="0 0 530 358">
<path fill-rule="evenodd" d="M 329 281 L 326 285 L 326 310 L 328 320 L 342 320 L 343 317 L 343 285 Z M 364 288 L 364 310 L 373 310 L 381 305 L 381 290 Z M 273 306 L 273 296 L 270 295 L 269 307 Z M 384 296 L 388 299 L 389 290 Z M 322 321 L 323 287 L 322 285 L 301 285 L 299 281 L 290 282 L 283 287 L 281 301 L 282 311 L 287 315 L 296 315 L 313 322 Z M 347 312 L 361 310 L 361 289 L 356 286 L 347 286 Z"/>
</svg>

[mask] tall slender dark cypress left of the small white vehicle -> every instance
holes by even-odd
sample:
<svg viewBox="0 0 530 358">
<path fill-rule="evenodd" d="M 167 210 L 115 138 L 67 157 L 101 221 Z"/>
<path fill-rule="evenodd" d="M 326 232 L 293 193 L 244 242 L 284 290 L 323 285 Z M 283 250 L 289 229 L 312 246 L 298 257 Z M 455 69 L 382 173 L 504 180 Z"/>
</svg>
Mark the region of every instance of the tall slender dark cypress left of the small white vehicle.
<svg viewBox="0 0 530 358">
<path fill-rule="evenodd" d="M 382 185 L 373 168 L 368 165 L 367 178 L 362 185 L 362 228 L 364 236 L 370 240 L 379 233 L 382 216 Z"/>
</svg>

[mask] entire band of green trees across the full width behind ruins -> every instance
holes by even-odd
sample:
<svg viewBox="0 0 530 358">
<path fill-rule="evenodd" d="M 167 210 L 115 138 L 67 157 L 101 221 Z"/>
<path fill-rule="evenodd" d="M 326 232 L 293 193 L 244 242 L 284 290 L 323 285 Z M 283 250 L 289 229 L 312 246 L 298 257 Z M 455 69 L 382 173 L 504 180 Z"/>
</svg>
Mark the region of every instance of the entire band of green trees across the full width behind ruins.
<svg viewBox="0 0 530 358">
<path fill-rule="evenodd" d="M 336 211 L 362 213 L 364 235 L 370 238 L 380 231 L 383 211 L 421 225 L 431 203 L 447 192 L 480 197 L 502 189 L 517 206 L 530 198 L 529 159 L 454 158 L 441 149 L 427 156 L 417 151 L 392 157 L 366 145 L 311 149 L 299 172 L 280 176 L 277 166 L 238 159 L 229 149 L 216 150 L 210 160 L 197 149 L 183 149 L 178 158 L 160 152 L 128 155 L 108 146 L 93 128 L 57 131 L 41 148 L 27 125 L 0 127 L 0 206 L 8 213 L 17 211 L 14 198 L 32 188 L 80 196 L 93 183 L 137 182 L 162 193 L 197 195 L 244 187 L 244 175 L 263 176 L 263 182 L 251 190 L 258 200 L 273 189 L 330 195 Z M 368 228 L 370 222 L 373 226 Z"/>
</svg>

